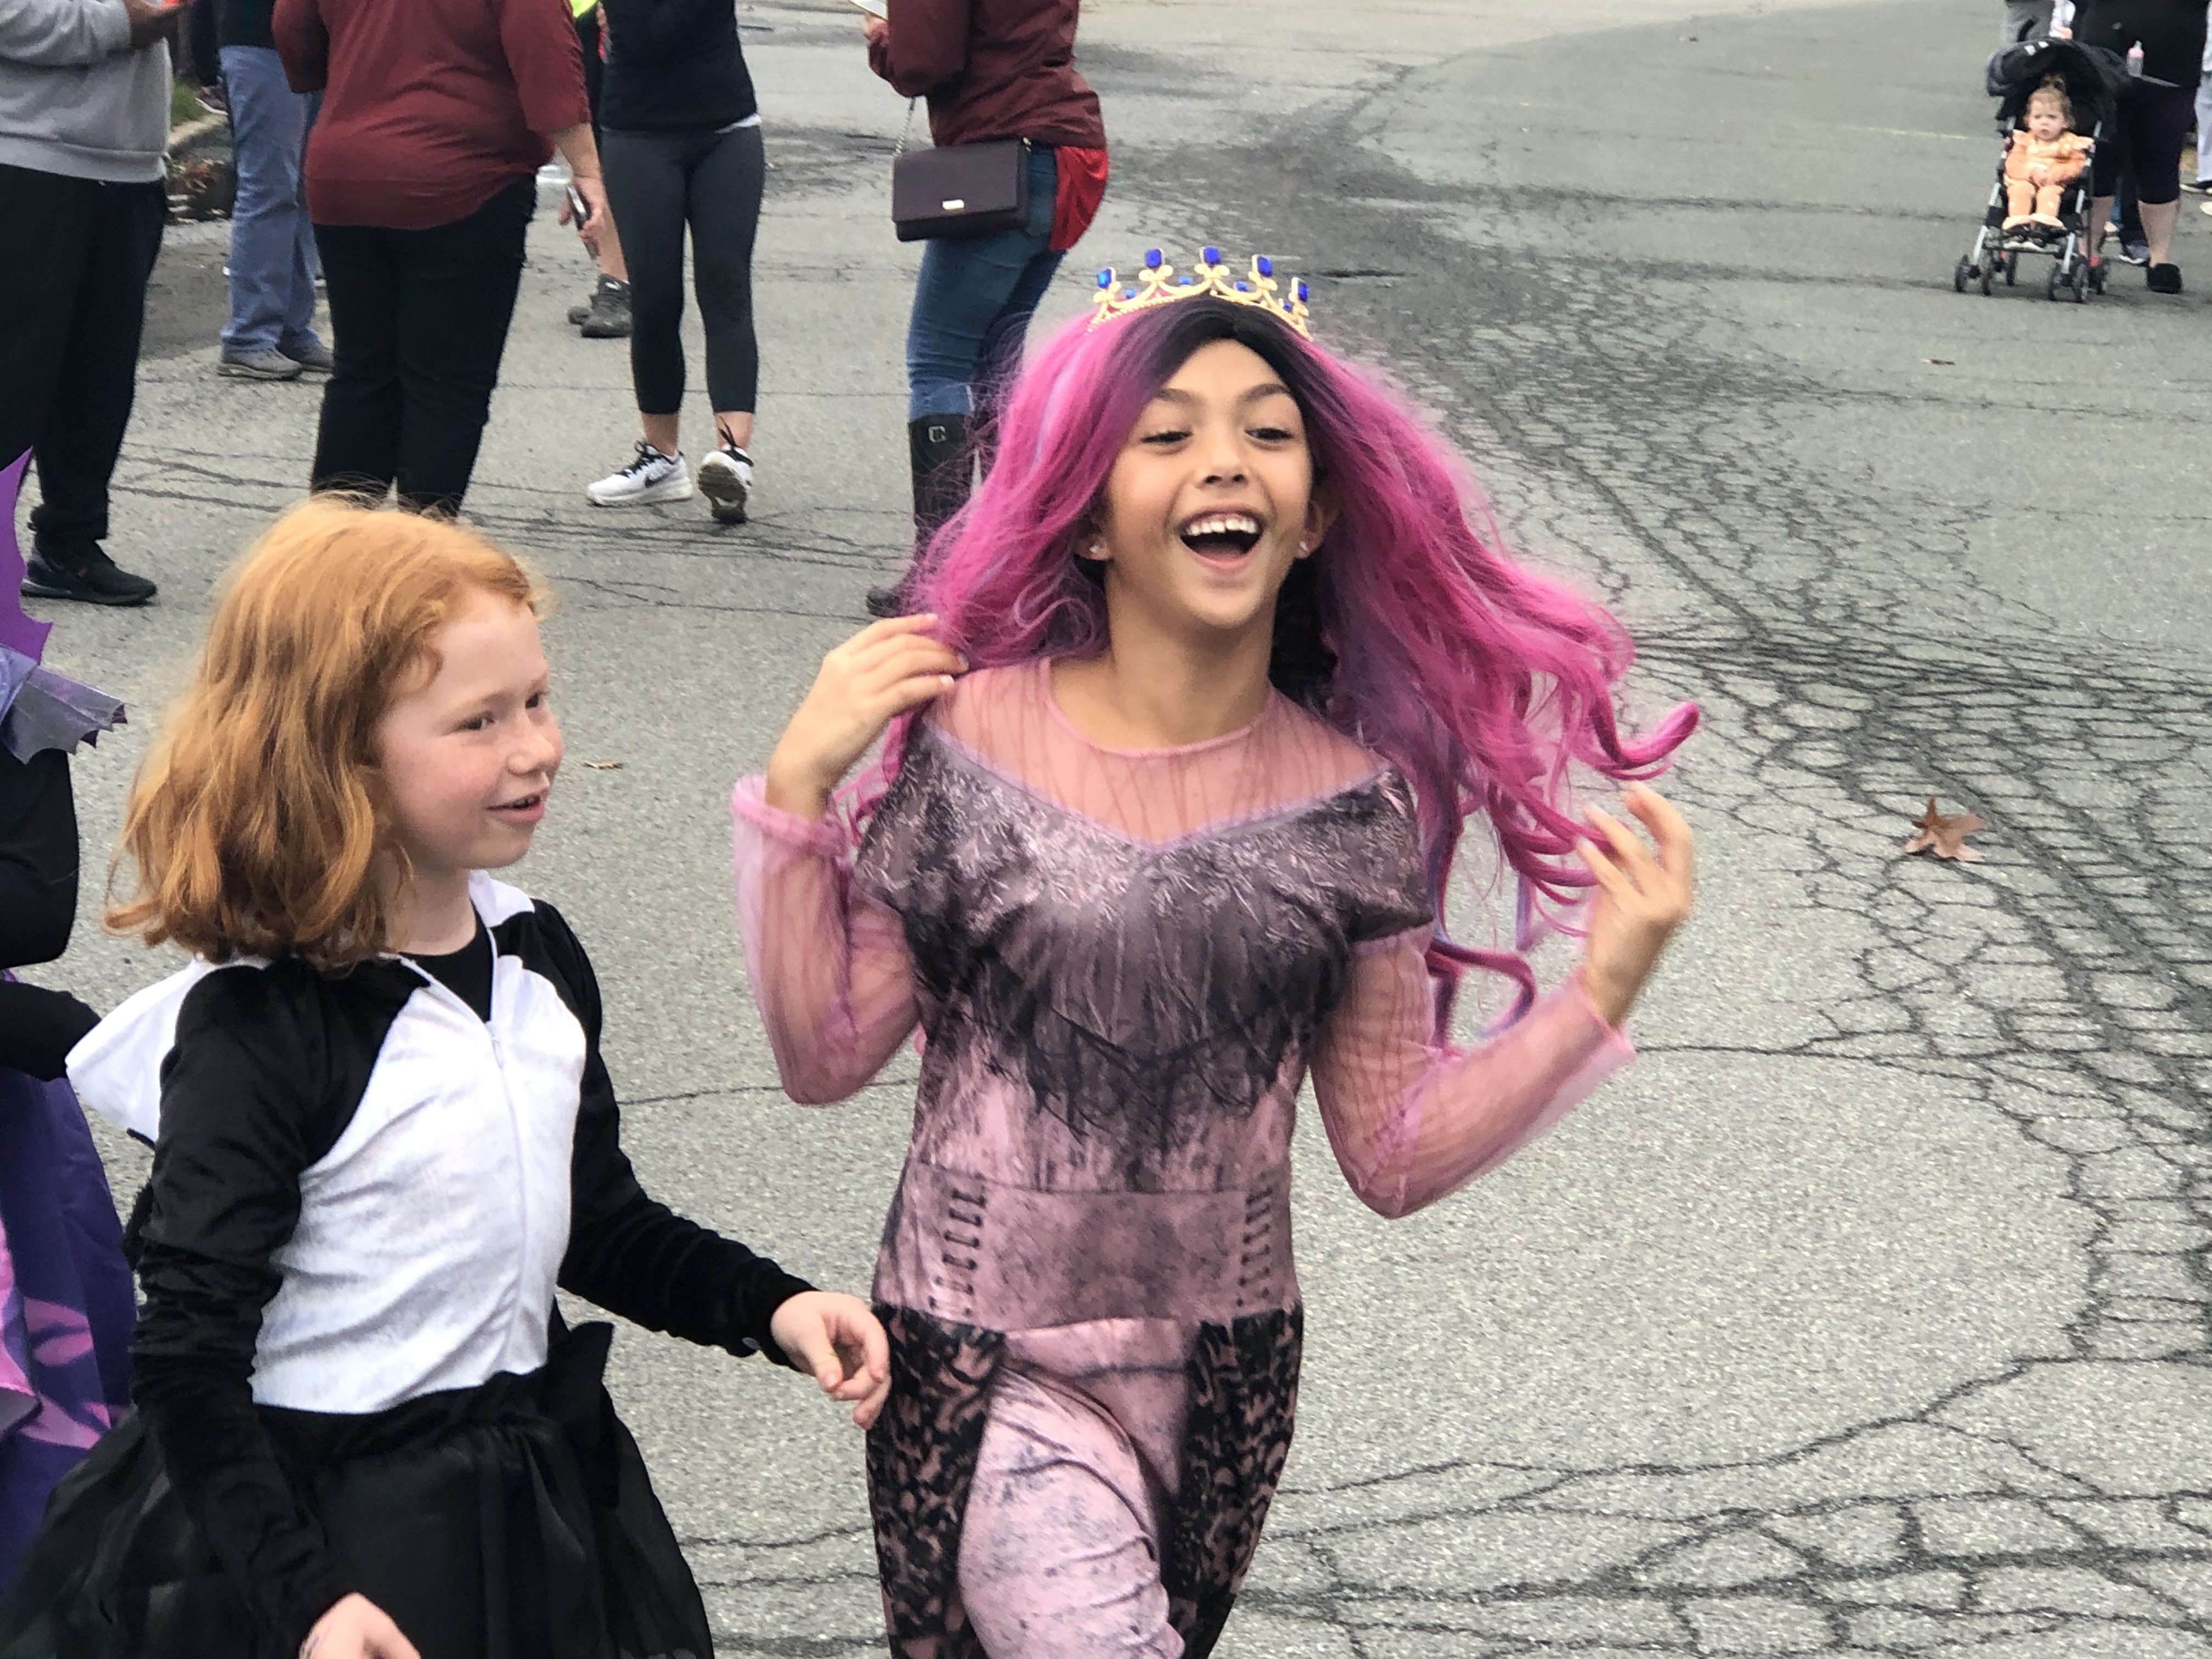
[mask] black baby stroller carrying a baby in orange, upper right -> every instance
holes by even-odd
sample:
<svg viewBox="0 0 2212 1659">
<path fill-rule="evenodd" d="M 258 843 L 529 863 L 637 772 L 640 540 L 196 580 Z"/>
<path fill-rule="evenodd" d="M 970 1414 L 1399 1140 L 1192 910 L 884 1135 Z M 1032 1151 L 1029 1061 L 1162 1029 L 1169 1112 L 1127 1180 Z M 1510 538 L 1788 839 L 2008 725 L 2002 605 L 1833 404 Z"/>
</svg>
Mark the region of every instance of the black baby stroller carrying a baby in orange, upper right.
<svg viewBox="0 0 2212 1659">
<path fill-rule="evenodd" d="M 2057 75 L 2066 84 L 2066 102 L 2073 104 L 2075 131 L 2090 142 L 2095 159 L 2097 142 L 2112 119 L 2112 106 L 2121 86 L 2128 84 L 2126 64 L 2099 46 L 2079 46 L 2070 40 L 2024 40 L 2006 46 L 1989 60 L 1989 95 L 1997 100 L 1997 133 L 2006 150 L 2013 135 L 2024 128 L 2028 93 Z M 2070 292 L 2077 303 L 2090 292 L 2104 292 L 2104 265 L 2088 259 L 2088 201 L 2090 170 L 2066 186 L 2059 199 L 2059 234 L 2035 234 L 2026 228 L 2006 234 L 2004 230 L 2004 157 L 1997 157 L 1997 181 L 1989 190 L 1989 210 L 1982 228 L 1973 237 L 1973 248 L 1951 270 L 1951 288 L 1960 294 L 1966 283 L 1978 281 L 1982 292 L 1995 288 L 2004 276 L 2006 288 L 2020 279 L 2020 259 L 2031 254 L 2051 259 L 2051 276 L 2044 294 L 2057 299 Z"/>
</svg>

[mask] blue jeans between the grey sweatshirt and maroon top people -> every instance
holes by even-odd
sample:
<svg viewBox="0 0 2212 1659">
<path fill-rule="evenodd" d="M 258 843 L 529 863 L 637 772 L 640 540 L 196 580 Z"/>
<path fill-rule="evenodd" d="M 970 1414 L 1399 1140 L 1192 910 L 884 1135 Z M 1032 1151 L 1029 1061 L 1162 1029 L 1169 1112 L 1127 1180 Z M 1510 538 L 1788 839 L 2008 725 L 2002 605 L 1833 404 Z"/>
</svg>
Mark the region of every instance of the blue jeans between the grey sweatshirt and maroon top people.
<svg viewBox="0 0 2212 1659">
<path fill-rule="evenodd" d="M 223 349 L 299 356 L 314 338 L 314 226 L 307 223 L 307 128 L 270 46 L 223 46 L 239 199 L 230 215 L 230 323 Z"/>
</svg>

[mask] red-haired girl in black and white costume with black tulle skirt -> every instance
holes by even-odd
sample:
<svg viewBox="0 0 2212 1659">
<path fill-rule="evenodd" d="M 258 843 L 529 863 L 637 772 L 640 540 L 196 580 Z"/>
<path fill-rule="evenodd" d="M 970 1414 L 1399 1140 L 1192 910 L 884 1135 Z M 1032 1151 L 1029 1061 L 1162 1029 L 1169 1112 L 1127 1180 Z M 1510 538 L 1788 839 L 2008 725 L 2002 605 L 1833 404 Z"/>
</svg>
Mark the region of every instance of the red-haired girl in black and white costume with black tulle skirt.
<svg viewBox="0 0 2212 1659">
<path fill-rule="evenodd" d="M 560 770 L 535 599 L 336 502 L 230 580 L 108 916 L 197 960 L 69 1062 L 155 1141 L 137 1413 L 46 1511 L 7 1659 L 706 1659 L 611 1332 L 555 1285 L 880 1407 L 860 1301 L 639 1188 L 584 947 L 484 874 Z"/>
</svg>

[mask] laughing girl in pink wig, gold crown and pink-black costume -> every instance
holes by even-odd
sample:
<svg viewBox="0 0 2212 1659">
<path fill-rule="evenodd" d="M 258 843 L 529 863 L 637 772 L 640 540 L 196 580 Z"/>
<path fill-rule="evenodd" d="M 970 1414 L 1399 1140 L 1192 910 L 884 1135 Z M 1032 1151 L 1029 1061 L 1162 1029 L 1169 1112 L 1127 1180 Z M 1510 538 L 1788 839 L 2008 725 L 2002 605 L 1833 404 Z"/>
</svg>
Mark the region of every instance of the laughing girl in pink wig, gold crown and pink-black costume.
<svg viewBox="0 0 2212 1659">
<path fill-rule="evenodd" d="M 1626 790 L 1652 854 L 1577 818 L 1568 774 L 1659 772 L 1694 710 L 1626 737 L 1619 626 L 1495 549 L 1389 394 L 1228 288 L 1044 349 L 922 615 L 832 650 L 737 787 L 787 1093 L 845 1099 L 927 1037 L 876 1270 L 900 1659 L 1210 1652 L 1290 1449 L 1301 1084 L 1360 1199 L 1433 1203 L 1630 1057 L 1690 907 L 1674 810 Z M 1522 947 L 1590 898 L 1548 995 L 1444 938 L 1469 823 Z M 1517 995 L 1455 1048 L 1467 967 Z"/>
</svg>

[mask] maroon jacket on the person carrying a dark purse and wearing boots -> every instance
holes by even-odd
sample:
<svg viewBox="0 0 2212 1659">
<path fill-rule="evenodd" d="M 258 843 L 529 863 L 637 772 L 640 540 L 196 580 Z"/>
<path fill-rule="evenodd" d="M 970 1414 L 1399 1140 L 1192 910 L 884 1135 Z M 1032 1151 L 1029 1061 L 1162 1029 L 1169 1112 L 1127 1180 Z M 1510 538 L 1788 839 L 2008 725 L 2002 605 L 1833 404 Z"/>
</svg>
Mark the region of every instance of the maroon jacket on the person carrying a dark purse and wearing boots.
<svg viewBox="0 0 2212 1659">
<path fill-rule="evenodd" d="M 1099 95 L 1075 73 L 1077 0 L 889 0 L 891 31 L 869 66 L 929 97 L 929 137 L 1106 148 Z"/>
</svg>

